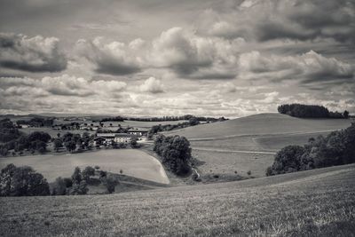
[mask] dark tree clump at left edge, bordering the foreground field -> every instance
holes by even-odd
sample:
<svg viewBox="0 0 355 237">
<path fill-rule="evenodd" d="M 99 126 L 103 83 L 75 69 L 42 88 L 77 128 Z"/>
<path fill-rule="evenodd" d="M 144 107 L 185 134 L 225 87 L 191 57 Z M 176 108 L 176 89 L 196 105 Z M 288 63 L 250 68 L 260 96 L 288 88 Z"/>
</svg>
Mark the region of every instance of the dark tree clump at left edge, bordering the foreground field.
<svg viewBox="0 0 355 237">
<path fill-rule="evenodd" d="M 31 167 L 7 165 L 0 173 L 0 196 L 43 196 L 50 186 L 43 175 Z"/>
</svg>

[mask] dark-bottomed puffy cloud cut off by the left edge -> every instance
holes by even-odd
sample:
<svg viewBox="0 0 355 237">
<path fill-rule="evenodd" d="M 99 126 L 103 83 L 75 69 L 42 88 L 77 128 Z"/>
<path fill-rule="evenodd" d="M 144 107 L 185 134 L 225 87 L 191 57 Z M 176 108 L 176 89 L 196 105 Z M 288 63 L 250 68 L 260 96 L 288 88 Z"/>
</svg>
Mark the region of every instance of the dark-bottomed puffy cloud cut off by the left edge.
<svg viewBox="0 0 355 237">
<path fill-rule="evenodd" d="M 66 69 L 67 59 L 55 37 L 0 33 L 0 66 L 28 72 Z"/>
</svg>

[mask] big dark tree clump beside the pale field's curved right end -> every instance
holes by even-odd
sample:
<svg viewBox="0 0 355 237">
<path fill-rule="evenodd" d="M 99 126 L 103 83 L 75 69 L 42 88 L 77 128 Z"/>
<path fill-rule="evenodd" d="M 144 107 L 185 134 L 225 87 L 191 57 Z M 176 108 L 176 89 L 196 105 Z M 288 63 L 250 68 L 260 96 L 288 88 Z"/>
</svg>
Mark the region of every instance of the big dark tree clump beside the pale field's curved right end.
<svg viewBox="0 0 355 237">
<path fill-rule="evenodd" d="M 184 175 L 191 170 L 191 147 L 185 137 L 159 135 L 154 140 L 154 152 L 173 173 Z"/>
</svg>

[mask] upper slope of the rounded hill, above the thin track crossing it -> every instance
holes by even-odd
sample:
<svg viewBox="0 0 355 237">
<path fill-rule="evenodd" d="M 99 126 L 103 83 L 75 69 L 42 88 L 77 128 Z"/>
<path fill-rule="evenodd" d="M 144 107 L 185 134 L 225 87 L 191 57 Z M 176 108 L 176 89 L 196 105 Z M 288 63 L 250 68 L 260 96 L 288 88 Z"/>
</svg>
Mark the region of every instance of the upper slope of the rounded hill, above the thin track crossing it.
<svg viewBox="0 0 355 237">
<path fill-rule="evenodd" d="M 245 135 L 282 133 L 312 133 L 349 127 L 346 119 L 302 119 L 280 114 L 250 115 L 225 122 L 214 122 L 173 130 L 165 134 L 178 134 L 186 138 L 228 138 Z"/>
</svg>

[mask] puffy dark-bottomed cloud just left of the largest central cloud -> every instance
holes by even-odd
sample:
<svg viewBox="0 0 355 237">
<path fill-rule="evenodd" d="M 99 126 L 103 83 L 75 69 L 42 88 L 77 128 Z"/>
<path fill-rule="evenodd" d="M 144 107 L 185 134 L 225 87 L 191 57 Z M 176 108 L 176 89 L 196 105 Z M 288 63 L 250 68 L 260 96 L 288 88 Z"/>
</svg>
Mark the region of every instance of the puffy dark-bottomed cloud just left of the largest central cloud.
<svg viewBox="0 0 355 237">
<path fill-rule="evenodd" d="M 143 43 L 134 40 L 127 46 L 125 43 L 114 41 L 103 43 L 102 37 L 92 41 L 79 40 L 76 51 L 79 55 L 91 61 L 96 72 L 108 75 L 130 75 L 141 70 L 143 60 L 135 50 Z"/>
</svg>

